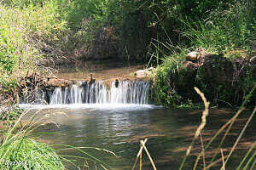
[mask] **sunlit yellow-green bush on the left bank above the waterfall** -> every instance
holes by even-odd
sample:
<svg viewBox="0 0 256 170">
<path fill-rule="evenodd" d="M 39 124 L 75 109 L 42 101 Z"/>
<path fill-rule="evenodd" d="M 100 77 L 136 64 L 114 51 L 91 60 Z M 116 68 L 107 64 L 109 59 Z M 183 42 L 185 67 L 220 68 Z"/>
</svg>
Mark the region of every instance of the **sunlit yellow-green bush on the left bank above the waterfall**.
<svg viewBox="0 0 256 170">
<path fill-rule="evenodd" d="M 14 6 L 0 3 L 0 99 L 2 104 L 10 105 L 10 100 L 15 100 L 20 77 L 34 71 L 45 73 L 44 59 L 53 59 L 58 54 L 52 48 L 65 29 L 53 3 L 45 2 L 44 7 Z"/>
</svg>

